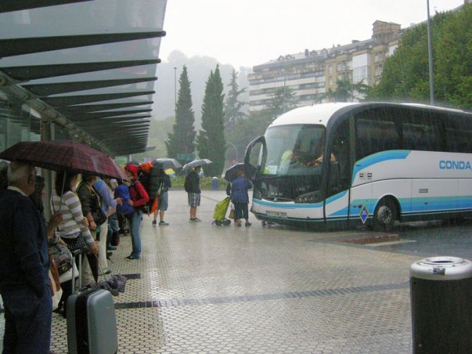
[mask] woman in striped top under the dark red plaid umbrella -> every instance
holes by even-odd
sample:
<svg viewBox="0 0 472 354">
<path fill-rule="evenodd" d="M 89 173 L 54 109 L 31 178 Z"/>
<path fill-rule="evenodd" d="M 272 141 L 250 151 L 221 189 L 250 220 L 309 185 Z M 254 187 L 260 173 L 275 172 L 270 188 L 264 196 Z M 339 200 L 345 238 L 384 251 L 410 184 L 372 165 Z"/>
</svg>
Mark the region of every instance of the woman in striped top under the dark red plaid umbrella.
<svg viewBox="0 0 472 354">
<path fill-rule="evenodd" d="M 89 222 L 87 218 L 82 213 L 82 205 L 80 204 L 80 199 L 73 192 L 75 186 L 78 183 L 79 176 L 78 174 L 58 172 L 56 174 L 56 184 L 54 188 L 54 194 L 52 195 L 52 210 L 54 212 L 61 212 L 62 221 L 59 224 L 58 236 L 61 237 L 61 240 L 66 243 L 69 250 L 73 251 L 77 248 L 83 247 L 85 243 L 85 258 L 87 258 L 88 264 L 90 264 L 90 269 L 94 280 L 98 280 L 98 258 L 99 248 L 95 242 L 92 234 L 89 229 Z M 75 259 L 75 262 L 78 266 L 78 257 Z M 61 312 L 63 317 L 66 317 L 67 313 L 67 298 L 71 295 L 72 280 L 65 281 L 61 283 L 62 288 L 62 298 L 59 305 L 58 312 Z"/>
</svg>

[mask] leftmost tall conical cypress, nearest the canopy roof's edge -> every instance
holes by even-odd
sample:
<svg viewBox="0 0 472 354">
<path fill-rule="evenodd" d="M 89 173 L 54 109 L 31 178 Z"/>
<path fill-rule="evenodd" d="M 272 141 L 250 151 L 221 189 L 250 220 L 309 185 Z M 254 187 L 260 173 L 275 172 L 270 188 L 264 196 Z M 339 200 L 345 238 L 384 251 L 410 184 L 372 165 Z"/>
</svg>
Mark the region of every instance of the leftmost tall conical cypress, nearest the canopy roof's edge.
<svg viewBox="0 0 472 354">
<path fill-rule="evenodd" d="M 178 154 L 193 154 L 195 152 L 196 135 L 192 94 L 186 66 L 183 66 L 178 84 L 180 87 L 176 103 L 176 121 L 172 133 L 169 133 L 166 141 L 167 156 L 174 159 L 177 159 Z"/>
</svg>

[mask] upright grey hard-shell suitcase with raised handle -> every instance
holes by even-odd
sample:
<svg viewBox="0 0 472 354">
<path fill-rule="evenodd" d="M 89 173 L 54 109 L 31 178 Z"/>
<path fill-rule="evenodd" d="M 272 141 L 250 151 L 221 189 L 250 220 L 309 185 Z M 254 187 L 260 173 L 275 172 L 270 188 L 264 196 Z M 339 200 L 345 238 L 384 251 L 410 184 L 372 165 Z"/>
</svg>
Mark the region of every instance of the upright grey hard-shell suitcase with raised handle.
<svg viewBox="0 0 472 354">
<path fill-rule="evenodd" d="M 67 299 L 67 348 L 69 354 L 113 354 L 118 352 L 118 335 L 113 298 L 109 291 L 85 289 L 75 293 L 75 278 L 72 274 L 72 293 Z"/>
</svg>

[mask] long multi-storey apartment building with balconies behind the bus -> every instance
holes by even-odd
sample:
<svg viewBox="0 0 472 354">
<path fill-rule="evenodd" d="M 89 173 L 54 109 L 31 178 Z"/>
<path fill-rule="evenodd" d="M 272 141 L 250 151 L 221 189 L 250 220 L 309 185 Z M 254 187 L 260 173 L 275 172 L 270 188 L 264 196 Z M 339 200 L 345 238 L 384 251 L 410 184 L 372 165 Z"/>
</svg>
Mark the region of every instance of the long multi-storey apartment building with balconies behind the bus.
<svg viewBox="0 0 472 354">
<path fill-rule="evenodd" d="M 327 90 L 335 90 L 338 79 L 365 85 L 378 83 L 401 33 L 397 23 L 377 20 L 369 39 L 353 40 L 331 49 L 305 49 L 254 66 L 253 73 L 248 75 L 249 110 L 265 109 L 272 94 L 281 87 L 289 87 L 294 93 L 296 106 L 306 106 L 317 102 Z"/>
</svg>

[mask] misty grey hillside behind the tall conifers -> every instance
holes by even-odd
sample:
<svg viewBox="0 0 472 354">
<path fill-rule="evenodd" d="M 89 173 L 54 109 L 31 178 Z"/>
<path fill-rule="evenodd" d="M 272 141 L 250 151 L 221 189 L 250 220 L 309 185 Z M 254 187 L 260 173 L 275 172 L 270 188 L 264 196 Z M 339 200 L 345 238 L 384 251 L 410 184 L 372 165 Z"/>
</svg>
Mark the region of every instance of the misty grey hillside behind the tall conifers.
<svg viewBox="0 0 472 354">
<path fill-rule="evenodd" d="M 157 81 L 155 84 L 155 98 L 153 117 L 163 120 L 174 116 L 174 67 L 176 67 L 176 90 L 178 94 L 178 78 L 181 75 L 183 65 L 187 66 L 190 88 L 192 90 L 193 111 L 195 112 L 195 127 L 200 129 L 200 118 L 202 116 L 202 101 L 205 94 L 205 83 L 217 66 L 217 59 L 209 56 L 192 56 L 188 58 L 181 51 L 173 51 L 169 58 L 162 58 L 162 63 L 157 64 Z M 229 89 L 229 80 L 233 66 L 219 63 L 225 92 Z M 250 68 L 236 68 L 240 89 L 246 87 L 246 92 L 240 95 L 241 101 L 249 102 L 247 73 Z"/>
</svg>

